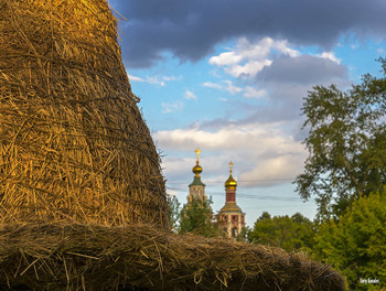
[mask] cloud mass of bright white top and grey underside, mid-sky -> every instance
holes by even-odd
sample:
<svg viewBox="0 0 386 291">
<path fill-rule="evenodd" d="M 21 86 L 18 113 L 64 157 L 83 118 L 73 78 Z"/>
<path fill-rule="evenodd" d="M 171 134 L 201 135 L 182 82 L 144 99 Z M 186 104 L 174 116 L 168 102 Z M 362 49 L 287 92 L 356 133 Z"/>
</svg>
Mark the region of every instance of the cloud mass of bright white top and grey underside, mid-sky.
<svg viewBox="0 0 386 291">
<path fill-rule="evenodd" d="M 255 67 L 250 74 L 233 74 L 234 67 L 240 68 L 243 63 L 256 62 L 267 65 Z M 332 83 L 346 86 L 349 83 L 347 67 L 342 65 L 333 53 L 301 54 L 289 47 L 287 42 L 269 37 L 255 43 L 239 40 L 228 52 L 211 57 L 210 63 L 215 66 L 222 65 L 225 73 L 238 77 L 234 80 L 206 82 L 203 86 L 244 97 L 245 101 L 238 99 L 238 104 L 232 105 L 244 112 L 244 117 L 237 121 L 242 125 L 300 120 L 303 98 L 312 86 Z M 264 99 L 264 103 L 250 104 L 247 99 Z M 208 123 L 214 125 L 216 121 Z"/>
</svg>

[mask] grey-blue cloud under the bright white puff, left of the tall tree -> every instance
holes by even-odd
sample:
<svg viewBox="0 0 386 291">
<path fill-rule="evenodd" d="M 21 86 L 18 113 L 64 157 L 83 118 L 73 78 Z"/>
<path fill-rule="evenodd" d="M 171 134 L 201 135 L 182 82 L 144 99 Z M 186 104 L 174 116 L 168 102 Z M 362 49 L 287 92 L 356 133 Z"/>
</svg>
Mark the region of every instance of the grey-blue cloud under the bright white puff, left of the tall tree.
<svg viewBox="0 0 386 291">
<path fill-rule="evenodd" d="M 250 103 L 248 99 L 229 101 L 234 111 L 244 112 L 237 120 L 225 117 L 202 123 L 203 128 L 217 129 L 228 125 L 299 122 L 301 107 L 308 91 L 314 85 L 339 87 L 350 86 L 347 67 L 329 58 L 319 56 L 279 56 L 274 58 L 270 66 L 266 66 L 255 78 L 249 79 L 249 86 L 269 91 L 268 99 L 262 104 Z M 299 126 L 298 125 L 298 126 Z M 297 133 L 298 133 L 297 129 Z"/>
</svg>

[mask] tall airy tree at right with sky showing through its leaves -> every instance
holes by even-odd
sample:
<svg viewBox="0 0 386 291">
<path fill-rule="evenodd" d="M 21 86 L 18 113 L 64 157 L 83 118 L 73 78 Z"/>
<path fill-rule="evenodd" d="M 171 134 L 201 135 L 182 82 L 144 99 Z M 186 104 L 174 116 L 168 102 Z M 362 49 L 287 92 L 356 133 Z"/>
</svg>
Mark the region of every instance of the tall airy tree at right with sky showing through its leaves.
<svg viewBox="0 0 386 291">
<path fill-rule="evenodd" d="M 304 99 L 309 158 L 296 183 L 304 200 L 315 196 L 320 220 L 386 184 L 386 61 L 379 62 L 383 77 L 367 74 L 347 91 L 317 86 Z"/>
</svg>

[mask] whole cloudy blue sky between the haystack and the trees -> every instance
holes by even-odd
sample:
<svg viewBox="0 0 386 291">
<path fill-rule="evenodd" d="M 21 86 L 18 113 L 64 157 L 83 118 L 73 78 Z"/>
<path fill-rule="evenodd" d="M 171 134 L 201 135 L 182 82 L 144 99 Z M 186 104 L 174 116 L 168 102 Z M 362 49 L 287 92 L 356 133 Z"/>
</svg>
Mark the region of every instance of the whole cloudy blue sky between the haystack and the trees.
<svg viewBox="0 0 386 291">
<path fill-rule="evenodd" d="M 132 91 L 160 150 L 170 194 L 186 202 L 194 150 L 213 209 L 228 162 L 253 226 L 264 211 L 302 213 L 291 184 L 308 153 L 301 106 L 315 85 L 345 89 L 386 52 L 383 0 L 110 0 Z"/>
</svg>

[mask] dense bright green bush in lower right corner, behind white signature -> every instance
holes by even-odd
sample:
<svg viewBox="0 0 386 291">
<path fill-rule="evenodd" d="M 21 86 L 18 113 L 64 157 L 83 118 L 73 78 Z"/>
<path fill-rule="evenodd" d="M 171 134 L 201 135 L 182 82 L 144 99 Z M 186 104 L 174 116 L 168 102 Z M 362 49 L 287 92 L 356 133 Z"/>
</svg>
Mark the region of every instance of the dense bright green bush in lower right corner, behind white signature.
<svg viewBox="0 0 386 291">
<path fill-rule="evenodd" d="M 386 288 L 386 190 L 362 196 L 340 217 L 323 223 L 313 257 L 333 265 L 346 277 L 350 290 Z M 378 279 L 378 284 L 361 283 Z"/>
</svg>

